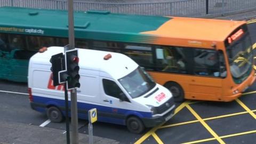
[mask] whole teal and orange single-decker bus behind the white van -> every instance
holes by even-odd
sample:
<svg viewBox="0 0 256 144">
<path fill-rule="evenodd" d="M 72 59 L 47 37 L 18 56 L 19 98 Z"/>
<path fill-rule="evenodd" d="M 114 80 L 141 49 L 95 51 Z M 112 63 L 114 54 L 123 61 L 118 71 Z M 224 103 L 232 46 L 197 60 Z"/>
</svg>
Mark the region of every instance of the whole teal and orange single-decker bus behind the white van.
<svg viewBox="0 0 256 144">
<path fill-rule="evenodd" d="M 26 82 L 31 55 L 68 44 L 67 11 L 0 7 L 0 18 L 2 79 Z M 74 27 L 76 47 L 128 55 L 175 101 L 231 101 L 255 80 L 245 21 L 87 11 Z"/>
</svg>

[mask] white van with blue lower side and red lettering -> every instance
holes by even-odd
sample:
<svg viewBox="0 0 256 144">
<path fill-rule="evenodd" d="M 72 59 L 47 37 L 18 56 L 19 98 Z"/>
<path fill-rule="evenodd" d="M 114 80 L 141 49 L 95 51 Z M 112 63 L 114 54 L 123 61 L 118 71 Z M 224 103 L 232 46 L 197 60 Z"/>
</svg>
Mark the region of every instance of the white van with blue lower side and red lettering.
<svg viewBox="0 0 256 144">
<path fill-rule="evenodd" d="M 28 69 L 31 108 L 46 112 L 52 122 L 61 122 L 65 115 L 63 85 L 53 86 L 50 70 L 51 56 L 60 52 L 63 47 L 54 46 L 36 53 Z M 141 133 L 172 117 L 175 105 L 170 91 L 126 55 L 78 49 L 78 57 L 78 118 L 87 119 L 87 111 L 97 108 L 98 121 L 126 125 L 129 131 Z"/>
</svg>

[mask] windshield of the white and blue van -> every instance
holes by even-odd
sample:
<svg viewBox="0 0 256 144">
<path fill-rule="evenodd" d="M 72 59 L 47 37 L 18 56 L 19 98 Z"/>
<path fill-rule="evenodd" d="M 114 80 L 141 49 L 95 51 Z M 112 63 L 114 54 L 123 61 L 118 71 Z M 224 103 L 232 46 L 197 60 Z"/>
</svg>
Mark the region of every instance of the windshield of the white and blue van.
<svg viewBox="0 0 256 144">
<path fill-rule="evenodd" d="M 141 67 L 118 79 L 118 81 L 132 98 L 140 97 L 140 95 L 147 93 L 156 85 L 154 80 Z"/>
</svg>

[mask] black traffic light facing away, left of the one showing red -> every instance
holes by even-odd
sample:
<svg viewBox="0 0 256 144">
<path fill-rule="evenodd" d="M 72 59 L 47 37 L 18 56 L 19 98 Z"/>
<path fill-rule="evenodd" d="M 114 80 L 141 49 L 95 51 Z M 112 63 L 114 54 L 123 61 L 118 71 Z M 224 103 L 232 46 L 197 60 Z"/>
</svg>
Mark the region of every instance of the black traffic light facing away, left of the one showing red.
<svg viewBox="0 0 256 144">
<path fill-rule="evenodd" d="M 65 59 L 63 53 L 52 55 L 50 62 L 52 63 L 52 80 L 53 86 L 60 85 L 59 83 L 59 71 L 65 69 Z"/>
</svg>

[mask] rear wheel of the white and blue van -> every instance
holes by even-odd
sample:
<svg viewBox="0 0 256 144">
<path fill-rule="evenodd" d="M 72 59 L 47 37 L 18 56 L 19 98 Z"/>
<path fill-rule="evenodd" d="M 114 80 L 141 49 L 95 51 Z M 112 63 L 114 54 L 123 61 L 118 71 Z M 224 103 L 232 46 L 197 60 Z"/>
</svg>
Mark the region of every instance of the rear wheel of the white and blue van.
<svg viewBox="0 0 256 144">
<path fill-rule="evenodd" d="M 63 120 L 63 115 L 61 111 L 54 106 L 47 108 L 47 117 L 53 123 L 60 123 Z"/>
</svg>

